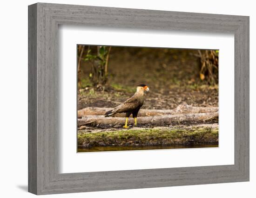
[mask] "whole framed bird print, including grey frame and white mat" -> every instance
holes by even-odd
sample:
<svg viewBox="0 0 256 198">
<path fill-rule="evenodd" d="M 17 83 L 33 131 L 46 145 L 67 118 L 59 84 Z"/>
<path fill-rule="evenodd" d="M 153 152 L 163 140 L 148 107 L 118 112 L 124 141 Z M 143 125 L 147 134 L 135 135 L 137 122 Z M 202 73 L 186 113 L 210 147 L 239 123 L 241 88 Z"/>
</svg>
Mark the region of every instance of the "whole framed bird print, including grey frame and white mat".
<svg viewBox="0 0 256 198">
<path fill-rule="evenodd" d="M 249 181 L 249 17 L 28 8 L 29 192 Z"/>
</svg>

